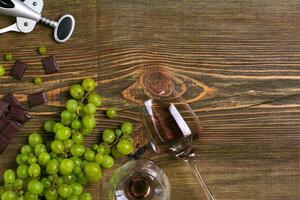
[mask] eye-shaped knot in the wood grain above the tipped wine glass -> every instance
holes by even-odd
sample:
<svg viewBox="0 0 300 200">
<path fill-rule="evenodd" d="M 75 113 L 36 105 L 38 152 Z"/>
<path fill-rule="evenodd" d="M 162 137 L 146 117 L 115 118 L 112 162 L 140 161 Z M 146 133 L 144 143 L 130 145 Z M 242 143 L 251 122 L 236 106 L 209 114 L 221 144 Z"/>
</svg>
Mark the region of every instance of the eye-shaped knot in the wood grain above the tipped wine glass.
<svg viewBox="0 0 300 200">
<path fill-rule="evenodd" d="M 150 98 L 181 98 L 187 103 L 202 100 L 215 92 L 203 82 L 176 73 L 166 67 L 144 67 L 140 70 L 139 78 L 123 90 L 125 99 L 143 104 Z"/>
</svg>

